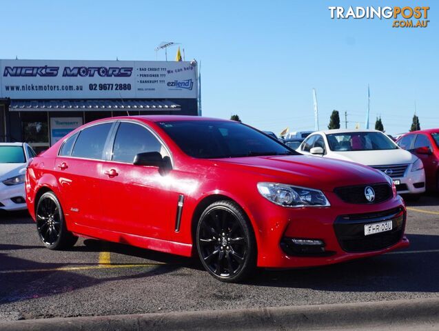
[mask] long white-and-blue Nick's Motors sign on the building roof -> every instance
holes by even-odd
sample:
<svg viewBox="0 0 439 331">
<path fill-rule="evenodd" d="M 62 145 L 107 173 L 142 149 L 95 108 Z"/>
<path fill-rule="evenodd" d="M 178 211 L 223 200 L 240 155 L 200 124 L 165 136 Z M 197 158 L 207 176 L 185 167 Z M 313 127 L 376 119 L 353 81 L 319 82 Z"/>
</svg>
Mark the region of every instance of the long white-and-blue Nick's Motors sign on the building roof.
<svg viewBox="0 0 439 331">
<path fill-rule="evenodd" d="M 0 60 L 0 97 L 11 99 L 196 99 L 187 61 Z"/>
</svg>

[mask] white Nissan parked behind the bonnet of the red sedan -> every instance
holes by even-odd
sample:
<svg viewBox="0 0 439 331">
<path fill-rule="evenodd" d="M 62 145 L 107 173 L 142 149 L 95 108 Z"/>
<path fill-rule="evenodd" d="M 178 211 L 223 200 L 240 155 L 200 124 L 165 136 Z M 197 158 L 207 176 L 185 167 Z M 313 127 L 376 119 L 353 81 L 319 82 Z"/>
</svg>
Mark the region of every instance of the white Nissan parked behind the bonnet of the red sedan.
<svg viewBox="0 0 439 331">
<path fill-rule="evenodd" d="M 377 130 L 325 130 L 310 134 L 297 149 L 312 154 L 369 165 L 393 179 L 399 194 L 425 192 L 422 161 L 402 150 Z"/>
</svg>

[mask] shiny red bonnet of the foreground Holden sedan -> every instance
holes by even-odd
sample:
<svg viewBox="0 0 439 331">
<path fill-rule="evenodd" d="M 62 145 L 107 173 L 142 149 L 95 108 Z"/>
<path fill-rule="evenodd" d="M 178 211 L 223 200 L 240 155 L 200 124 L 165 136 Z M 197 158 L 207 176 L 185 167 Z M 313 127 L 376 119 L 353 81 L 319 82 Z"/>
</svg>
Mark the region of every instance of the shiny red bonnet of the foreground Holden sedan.
<svg viewBox="0 0 439 331">
<path fill-rule="evenodd" d="M 274 177 L 274 182 L 320 190 L 387 182 L 384 174 L 365 165 L 305 155 L 216 159 L 215 163 L 222 166 L 242 165 L 249 171 Z"/>
</svg>

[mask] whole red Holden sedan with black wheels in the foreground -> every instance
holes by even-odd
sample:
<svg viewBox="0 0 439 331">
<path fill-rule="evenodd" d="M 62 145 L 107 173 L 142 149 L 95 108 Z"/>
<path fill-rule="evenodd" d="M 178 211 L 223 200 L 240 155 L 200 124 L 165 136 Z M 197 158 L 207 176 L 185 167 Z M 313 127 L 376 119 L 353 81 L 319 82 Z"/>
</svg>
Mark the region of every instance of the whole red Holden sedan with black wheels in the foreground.
<svg viewBox="0 0 439 331">
<path fill-rule="evenodd" d="M 47 248 L 78 237 L 196 256 L 236 282 L 409 245 L 394 183 L 304 156 L 261 131 L 203 117 L 114 117 L 33 159 L 27 203 Z"/>
</svg>

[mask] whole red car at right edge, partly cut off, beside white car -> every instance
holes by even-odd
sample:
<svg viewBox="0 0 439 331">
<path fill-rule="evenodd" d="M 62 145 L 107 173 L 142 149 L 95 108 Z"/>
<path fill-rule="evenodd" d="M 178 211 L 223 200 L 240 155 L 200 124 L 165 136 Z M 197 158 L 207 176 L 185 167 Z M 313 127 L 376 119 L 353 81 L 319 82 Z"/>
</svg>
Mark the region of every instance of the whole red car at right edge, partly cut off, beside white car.
<svg viewBox="0 0 439 331">
<path fill-rule="evenodd" d="M 396 143 L 422 160 L 427 190 L 439 192 L 439 129 L 409 132 Z"/>
</svg>

